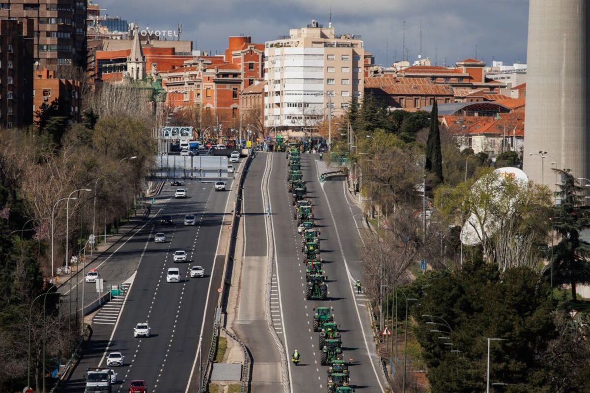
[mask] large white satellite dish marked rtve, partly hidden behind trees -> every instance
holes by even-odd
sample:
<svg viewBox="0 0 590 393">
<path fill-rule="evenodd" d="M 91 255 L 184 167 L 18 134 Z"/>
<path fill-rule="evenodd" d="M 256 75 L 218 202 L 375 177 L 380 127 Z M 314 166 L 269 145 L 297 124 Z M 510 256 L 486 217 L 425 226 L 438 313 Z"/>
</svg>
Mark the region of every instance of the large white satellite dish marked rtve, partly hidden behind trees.
<svg viewBox="0 0 590 393">
<path fill-rule="evenodd" d="M 480 180 L 477 180 L 475 184 L 473 184 L 472 189 L 477 189 L 477 185 L 483 183 L 488 176 L 498 176 L 494 183 L 491 184 L 492 187 L 496 189 L 501 189 L 501 183 L 505 177 L 510 177 L 524 186 L 528 181 L 529 177 L 526 176 L 526 173 L 522 170 L 514 167 L 503 167 L 494 170 L 491 174 L 482 177 Z M 512 203 L 512 201 L 509 201 Z M 480 215 L 483 215 L 484 212 L 479 212 Z M 484 225 L 485 227 L 482 229 L 479 220 L 477 219 L 477 214 L 471 213 L 471 216 L 466 220 L 461 228 L 461 243 L 464 246 L 477 246 L 481 243 L 481 239 L 483 239 L 483 234 L 486 233 L 487 236 L 492 236 L 500 227 L 500 223 L 497 220 L 491 219 Z"/>
</svg>

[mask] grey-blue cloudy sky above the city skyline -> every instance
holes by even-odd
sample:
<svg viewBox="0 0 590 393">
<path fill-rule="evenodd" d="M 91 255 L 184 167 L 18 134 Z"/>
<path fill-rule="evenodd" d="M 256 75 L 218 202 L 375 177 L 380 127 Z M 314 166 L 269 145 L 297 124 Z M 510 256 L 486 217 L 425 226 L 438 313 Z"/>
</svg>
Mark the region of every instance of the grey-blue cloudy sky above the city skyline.
<svg viewBox="0 0 590 393">
<path fill-rule="evenodd" d="M 362 35 L 377 64 L 391 64 L 405 48 L 414 60 L 420 48 L 434 65 L 477 57 L 512 64 L 526 62 L 528 0 L 94 0 L 109 15 L 140 28 L 175 29 L 194 49 L 221 52 L 230 35 L 251 35 L 254 42 L 289 34 L 316 19 L 327 25 L 332 7 L 336 34 Z"/>
</svg>

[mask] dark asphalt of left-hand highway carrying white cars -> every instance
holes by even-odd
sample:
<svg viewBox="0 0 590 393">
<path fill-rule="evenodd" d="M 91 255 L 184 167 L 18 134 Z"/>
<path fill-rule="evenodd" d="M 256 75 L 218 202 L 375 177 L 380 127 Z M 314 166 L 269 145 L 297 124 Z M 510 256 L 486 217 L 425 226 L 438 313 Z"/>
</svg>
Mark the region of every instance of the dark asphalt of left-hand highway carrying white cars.
<svg viewBox="0 0 590 393">
<path fill-rule="evenodd" d="M 227 186 L 229 189 L 231 180 Z M 106 276 L 109 269 L 116 271 L 117 261 L 132 258 L 136 260 L 137 270 L 120 306 L 110 311 L 104 308 L 95 317 L 89 348 L 68 381 L 66 391 L 83 391 L 86 368 L 106 366 L 104 356 L 111 351 L 125 356 L 125 364 L 114 367 L 119 382 L 113 392 L 128 391 L 132 379 L 145 379 L 150 393 L 196 391 L 199 367 L 195 356 L 202 329 L 205 354 L 211 342 L 212 319 L 204 321 L 205 304 L 211 312 L 217 299 L 211 293 L 217 295 L 217 285 L 221 282 L 225 256 L 217 254 L 217 246 L 229 192 L 216 192 L 213 183 L 199 181 L 188 181 L 183 187 L 188 190 L 188 198 L 174 199 L 176 187 L 167 186 L 159 198 L 162 209 L 158 216 L 142 226 L 100 267 L 99 272 L 104 270 L 101 276 Z M 157 211 L 152 209 L 152 213 Z M 195 226 L 183 225 L 183 217 L 188 213 L 195 214 Z M 171 214 L 175 223 L 162 226 L 159 219 L 164 214 Z M 153 242 L 156 232 L 165 233 L 167 241 Z M 173 262 L 175 250 L 185 250 L 187 262 Z M 189 269 L 194 265 L 205 268 L 204 278 L 189 277 Z M 166 283 L 169 267 L 180 268 L 181 282 Z M 209 295 L 213 300 L 208 302 Z M 148 322 L 152 336 L 134 338 L 133 328 L 138 322 Z"/>
</svg>

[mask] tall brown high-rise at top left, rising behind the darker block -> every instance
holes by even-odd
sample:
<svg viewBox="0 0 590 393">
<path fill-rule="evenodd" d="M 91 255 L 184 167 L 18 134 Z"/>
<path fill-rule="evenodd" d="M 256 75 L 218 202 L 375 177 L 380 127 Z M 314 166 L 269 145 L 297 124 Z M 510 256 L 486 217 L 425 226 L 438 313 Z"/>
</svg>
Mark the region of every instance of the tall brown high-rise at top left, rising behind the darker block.
<svg viewBox="0 0 590 393">
<path fill-rule="evenodd" d="M 0 0 L 0 18 L 33 21 L 38 68 L 86 67 L 86 0 Z"/>
</svg>

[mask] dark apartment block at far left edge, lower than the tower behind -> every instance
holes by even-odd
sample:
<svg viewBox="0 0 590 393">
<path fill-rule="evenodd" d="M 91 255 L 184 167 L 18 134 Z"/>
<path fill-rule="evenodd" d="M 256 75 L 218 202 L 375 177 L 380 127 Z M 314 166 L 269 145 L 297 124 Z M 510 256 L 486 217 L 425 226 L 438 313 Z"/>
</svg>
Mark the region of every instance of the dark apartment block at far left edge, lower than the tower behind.
<svg viewBox="0 0 590 393">
<path fill-rule="evenodd" d="M 33 22 L 0 19 L 0 129 L 32 123 Z"/>
</svg>

